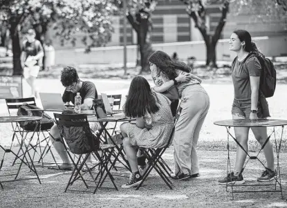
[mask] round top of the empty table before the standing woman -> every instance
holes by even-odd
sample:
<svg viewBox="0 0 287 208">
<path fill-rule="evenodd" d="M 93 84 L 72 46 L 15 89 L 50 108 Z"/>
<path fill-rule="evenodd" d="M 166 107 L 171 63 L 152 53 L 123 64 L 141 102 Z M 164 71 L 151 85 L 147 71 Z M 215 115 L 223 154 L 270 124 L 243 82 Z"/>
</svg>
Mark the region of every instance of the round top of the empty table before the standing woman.
<svg viewBox="0 0 287 208">
<path fill-rule="evenodd" d="M 263 126 L 285 126 L 287 120 L 275 119 L 237 119 L 237 120 L 222 120 L 214 122 L 218 126 L 237 126 L 237 127 L 263 127 Z"/>
</svg>

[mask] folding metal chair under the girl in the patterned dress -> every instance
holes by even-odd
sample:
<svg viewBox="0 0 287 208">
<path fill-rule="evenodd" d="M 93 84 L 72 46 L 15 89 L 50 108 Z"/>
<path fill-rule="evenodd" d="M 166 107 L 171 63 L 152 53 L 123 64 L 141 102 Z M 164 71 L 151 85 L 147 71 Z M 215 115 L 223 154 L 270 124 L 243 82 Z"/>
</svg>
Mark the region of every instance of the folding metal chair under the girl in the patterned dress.
<svg viewBox="0 0 287 208">
<path fill-rule="evenodd" d="M 163 156 L 163 153 L 165 153 L 165 150 L 172 143 L 172 139 L 174 138 L 176 122 L 178 121 L 178 118 L 180 116 L 182 109 L 183 108 L 178 106 L 178 109 L 176 111 L 176 116 L 174 117 L 174 128 L 172 129 L 172 133 L 170 134 L 169 140 L 165 146 L 163 146 L 162 148 L 140 147 L 140 149 L 142 149 L 144 151 L 144 154 L 147 156 L 148 167 L 142 176 L 142 182 L 140 182 L 138 187 L 136 187 L 137 190 L 142 186 L 143 182 L 145 182 L 145 180 L 147 179 L 147 176 L 149 176 L 149 173 L 151 172 L 152 169 L 155 169 L 158 175 L 160 176 L 160 178 L 162 178 L 165 184 L 169 187 L 169 189 L 172 189 L 172 182 L 169 180 L 171 169 L 168 167 L 165 160 L 163 160 L 162 156 Z"/>
</svg>

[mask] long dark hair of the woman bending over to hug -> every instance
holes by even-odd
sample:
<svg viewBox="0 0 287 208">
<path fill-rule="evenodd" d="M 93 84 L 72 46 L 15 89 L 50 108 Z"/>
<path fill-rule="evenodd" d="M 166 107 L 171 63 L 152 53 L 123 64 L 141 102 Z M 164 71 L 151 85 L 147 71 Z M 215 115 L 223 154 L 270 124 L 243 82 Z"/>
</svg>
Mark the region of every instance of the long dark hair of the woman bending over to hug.
<svg viewBox="0 0 287 208">
<path fill-rule="evenodd" d="M 176 74 L 176 69 L 183 70 L 186 73 L 190 72 L 190 68 L 183 62 L 173 61 L 167 53 L 157 50 L 149 56 L 149 62 L 156 64 L 158 66 L 158 73 L 162 72 L 169 79 L 174 79 L 178 75 Z"/>
</svg>

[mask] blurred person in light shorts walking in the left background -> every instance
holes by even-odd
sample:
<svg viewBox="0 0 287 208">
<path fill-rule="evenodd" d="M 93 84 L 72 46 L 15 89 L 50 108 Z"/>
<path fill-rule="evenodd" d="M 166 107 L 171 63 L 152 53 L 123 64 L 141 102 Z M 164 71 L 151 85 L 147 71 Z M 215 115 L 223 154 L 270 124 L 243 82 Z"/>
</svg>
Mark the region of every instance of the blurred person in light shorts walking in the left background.
<svg viewBox="0 0 287 208">
<path fill-rule="evenodd" d="M 21 66 L 24 69 L 24 78 L 31 88 L 32 96 L 38 97 L 35 80 L 42 65 L 44 50 L 40 41 L 35 39 L 35 35 L 35 30 L 28 30 L 21 53 Z"/>
</svg>

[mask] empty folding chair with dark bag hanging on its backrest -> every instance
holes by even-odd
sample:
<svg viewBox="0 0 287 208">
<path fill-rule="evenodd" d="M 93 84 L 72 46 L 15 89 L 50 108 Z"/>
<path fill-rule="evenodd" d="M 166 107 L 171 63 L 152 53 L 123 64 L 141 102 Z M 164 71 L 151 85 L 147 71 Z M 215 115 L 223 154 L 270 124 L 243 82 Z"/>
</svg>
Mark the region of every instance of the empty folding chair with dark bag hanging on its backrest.
<svg viewBox="0 0 287 208">
<path fill-rule="evenodd" d="M 65 192 L 82 191 L 95 193 L 99 187 L 102 187 L 107 176 L 109 176 L 113 183 L 113 187 L 118 190 L 114 178 L 110 173 L 111 167 L 109 167 L 109 161 L 115 146 L 111 144 L 102 144 L 100 142 L 99 136 L 92 133 L 87 117 L 84 114 L 54 113 L 54 117 L 68 157 L 71 159 L 74 166 L 71 177 L 66 185 Z M 79 138 L 80 140 L 78 140 Z M 78 155 L 76 161 L 71 153 Z M 90 155 L 93 155 L 98 160 L 98 163 L 93 167 L 88 167 L 86 164 Z M 83 171 L 84 167 L 86 167 L 86 171 Z M 68 189 L 70 186 L 75 185 L 77 181 L 82 181 L 86 189 L 93 187 L 93 191 Z M 88 184 L 89 182 L 92 182 L 92 185 Z M 80 185 L 77 183 L 74 187 L 80 187 Z"/>
</svg>

